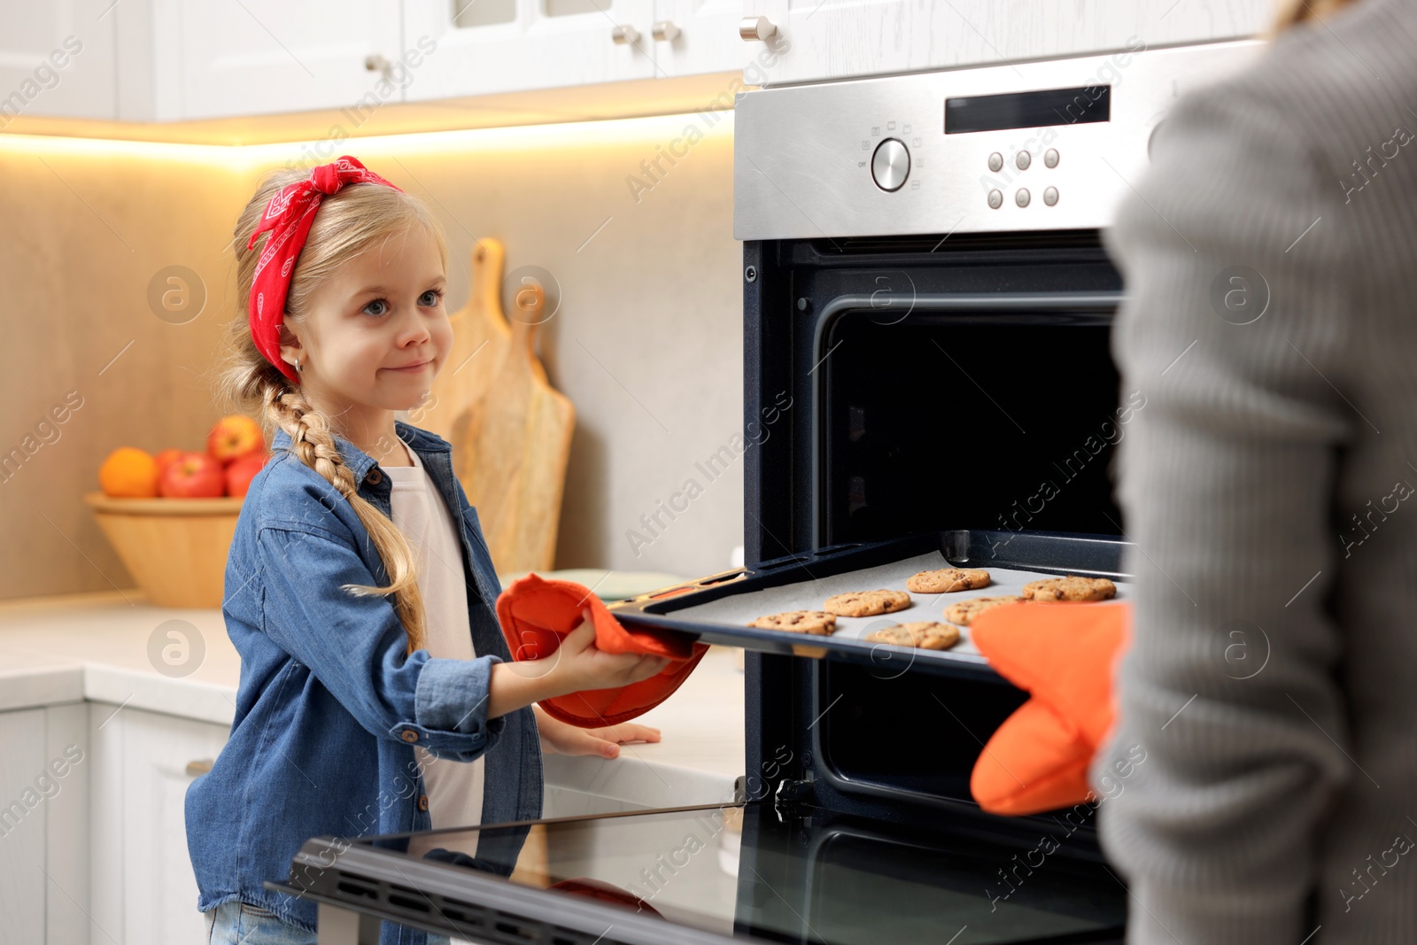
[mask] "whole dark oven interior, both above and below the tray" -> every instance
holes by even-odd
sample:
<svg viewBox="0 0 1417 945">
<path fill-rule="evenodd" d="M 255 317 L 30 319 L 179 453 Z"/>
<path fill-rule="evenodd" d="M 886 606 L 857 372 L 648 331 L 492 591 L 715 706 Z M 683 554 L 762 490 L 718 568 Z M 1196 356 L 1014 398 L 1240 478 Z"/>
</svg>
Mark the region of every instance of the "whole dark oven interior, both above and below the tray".
<svg viewBox="0 0 1417 945">
<path fill-rule="evenodd" d="M 750 562 L 951 528 L 1122 534 L 1114 456 L 1145 401 L 1112 366 L 1121 276 L 1095 231 L 748 241 L 744 264 L 744 415 L 789 404 L 745 453 Z M 1020 690 L 747 664 L 750 786 L 887 820 L 986 816 L 969 772 Z"/>
</svg>

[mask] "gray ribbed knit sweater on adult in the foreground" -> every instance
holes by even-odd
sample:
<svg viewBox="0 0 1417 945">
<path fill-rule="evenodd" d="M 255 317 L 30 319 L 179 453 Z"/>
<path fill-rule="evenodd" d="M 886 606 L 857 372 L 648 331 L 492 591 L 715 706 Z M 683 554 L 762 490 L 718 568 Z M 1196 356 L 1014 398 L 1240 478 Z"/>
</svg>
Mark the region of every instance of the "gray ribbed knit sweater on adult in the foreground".
<svg viewBox="0 0 1417 945">
<path fill-rule="evenodd" d="M 1414 130 L 1417 0 L 1360 0 L 1179 101 L 1107 234 L 1129 942 L 1417 942 Z"/>
</svg>

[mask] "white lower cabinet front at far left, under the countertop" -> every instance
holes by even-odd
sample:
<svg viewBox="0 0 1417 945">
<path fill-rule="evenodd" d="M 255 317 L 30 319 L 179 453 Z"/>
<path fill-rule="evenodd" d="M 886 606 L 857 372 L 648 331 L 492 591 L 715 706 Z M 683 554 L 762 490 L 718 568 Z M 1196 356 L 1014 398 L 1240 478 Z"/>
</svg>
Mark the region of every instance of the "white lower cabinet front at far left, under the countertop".
<svg viewBox="0 0 1417 945">
<path fill-rule="evenodd" d="M 0 945 L 89 941 L 82 706 L 0 713 Z"/>
</svg>

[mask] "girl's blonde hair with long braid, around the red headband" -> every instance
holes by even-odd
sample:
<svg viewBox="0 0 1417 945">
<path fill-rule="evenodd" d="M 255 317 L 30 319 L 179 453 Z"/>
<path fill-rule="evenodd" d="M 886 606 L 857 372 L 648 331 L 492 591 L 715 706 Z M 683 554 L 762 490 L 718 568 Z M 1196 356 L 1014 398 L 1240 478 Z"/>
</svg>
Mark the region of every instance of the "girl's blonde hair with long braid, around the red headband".
<svg viewBox="0 0 1417 945">
<path fill-rule="evenodd" d="M 251 283 L 261 249 L 271 234 L 269 231 L 262 234 L 251 249 L 247 249 L 247 241 L 261 222 L 271 197 L 286 184 L 306 177 L 309 171 L 299 169 L 268 173 L 237 220 L 232 234 L 232 251 L 237 256 L 237 313 L 231 320 L 230 353 L 217 377 L 218 397 L 225 401 L 227 409 L 235 407 L 258 417 L 266 442 L 271 442 L 276 428 L 289 434 L 290 452 L 323 476 L 350 503 L 384 562 L 390 585 L 381 588 L 346 584 L 343 588 L 356 596 L 393 594 L 394 609 L 408 633 L 408 652 L 412 653 L 424 646 L 427 635 L 424 599 L 418 589 L 417 564 L 408 540 L 388 516 L 359 494 L 354 473 L 344 465 L 334 445 L 334 426 L 330 418 L 310 404 L 299 384 L 290 383 L 279 368 L 266 361 L 251 337 L 247 309 Z M 407 232 L 412 227 L 428 228 L 446 268 L 446 237 L 438 220 L 417 197 L 374 183 L 347 184 L 339 193 L 324 197 L 290 275 L 285 320 L 299 326 L 309 313 L 310 296 L 339 266 L 385 237 Z"/>
</svg>

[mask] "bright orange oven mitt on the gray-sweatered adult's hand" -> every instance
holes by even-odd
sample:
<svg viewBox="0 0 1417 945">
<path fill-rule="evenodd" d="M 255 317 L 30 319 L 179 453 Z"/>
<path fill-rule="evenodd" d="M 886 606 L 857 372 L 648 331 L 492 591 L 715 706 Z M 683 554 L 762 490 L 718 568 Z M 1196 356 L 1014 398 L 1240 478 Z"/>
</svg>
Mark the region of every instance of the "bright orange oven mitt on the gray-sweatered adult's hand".
<svg viewBox="0 0 1417 945">
<path fill-rule="evenodd" d="M 1023 815 L 1087 799 L 1087 768 L 1112 725 L 1112 664 L 1129 604 L 1009 604 L 969 628 L 979 652 L 1032 698 L 989 738 L 969 792 L 989 813 Z"/>
</svg>

